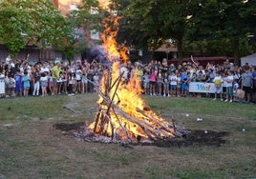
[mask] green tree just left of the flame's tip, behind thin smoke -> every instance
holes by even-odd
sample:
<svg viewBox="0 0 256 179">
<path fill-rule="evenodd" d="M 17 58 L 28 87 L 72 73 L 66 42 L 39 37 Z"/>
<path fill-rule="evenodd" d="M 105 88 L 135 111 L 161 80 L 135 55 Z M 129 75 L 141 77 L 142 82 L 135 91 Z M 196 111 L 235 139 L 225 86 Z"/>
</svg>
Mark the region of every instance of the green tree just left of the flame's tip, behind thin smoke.
<svg viewBox="0 0 256 179">
<path fill-rule="evenodd" d="M 88 48 L 88 36 L 91 30 L 100 31 L 105 10 L 99 7 L 97 0 L 83 0 L 78 10 L 71 11 L 65 18 L 63 35 L 53 48 L 65 54 L 70 61 L 75 54 Z M 89 34 L 89 35 L 88 35 Z"/>
</svg>

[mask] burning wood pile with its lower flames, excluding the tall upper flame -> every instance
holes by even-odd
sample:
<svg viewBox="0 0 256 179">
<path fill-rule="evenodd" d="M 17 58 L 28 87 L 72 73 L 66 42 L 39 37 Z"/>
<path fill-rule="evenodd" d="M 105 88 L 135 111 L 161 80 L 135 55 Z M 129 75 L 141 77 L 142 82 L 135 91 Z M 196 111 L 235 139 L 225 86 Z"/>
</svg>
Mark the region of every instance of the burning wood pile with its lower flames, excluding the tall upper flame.
<svg viewBox="0 0 256 179">
<path fill-rule="evenodd" d="M 101 80 L 104 86 L 96 88 L 99 100 L 95 121 L 86 125 L 80 136 L 86 141 L 125 144 L 168 141 L 179 136 L 173 122 L 167 122 L 145 106 L 139 98 L 140 89 L 130 88 L 135 85 L 136 76 L 124 83 L 122 73 L 113 80 L 111 71 L 105 70 Z"/>
</svg>

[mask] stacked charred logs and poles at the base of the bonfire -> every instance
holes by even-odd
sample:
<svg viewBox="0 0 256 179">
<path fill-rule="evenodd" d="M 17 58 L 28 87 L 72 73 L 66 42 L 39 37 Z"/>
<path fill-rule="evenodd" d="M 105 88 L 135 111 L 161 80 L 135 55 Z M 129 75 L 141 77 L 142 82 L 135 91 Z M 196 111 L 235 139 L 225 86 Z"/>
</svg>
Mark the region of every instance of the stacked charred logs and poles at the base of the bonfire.
<svg viewBox="0 0 256 179">
<path fill-rule="evenodd" d="M 109 75 L 107 75 L 107 79 L 110 80 Z M 137 144 L 139 142 L 154 143 L 159 140 L 169 141 L 176 136 L 180 136 L 174 122 L 167 122 L 148 108 L 137 108 L 135 112 L 138 112 L 139 115 L 131 115 L 122 110 L 118 106 L 119 102 L 114 102 L 115 96 L 118 95 L 117 89 L 120 83 L 122 83 L 122 74 L 113 83 L 115 85 L 107 85 L 104 91 L 96 87 L 102 101 L 96 112 L 95 122 L 85 127 L 86 131 L 83 132 L 85 140 Z M 111 83 L 107 82 L 105 84 Z M 114 90 L 112 96 L 109 95 L 110 90 Z"/>
</svg>

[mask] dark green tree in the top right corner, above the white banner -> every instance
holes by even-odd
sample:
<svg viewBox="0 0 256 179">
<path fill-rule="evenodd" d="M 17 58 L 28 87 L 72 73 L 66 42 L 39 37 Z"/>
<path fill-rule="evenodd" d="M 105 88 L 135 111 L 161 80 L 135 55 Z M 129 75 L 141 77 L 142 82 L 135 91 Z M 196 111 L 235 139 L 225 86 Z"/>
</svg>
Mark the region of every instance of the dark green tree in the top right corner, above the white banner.
<svg viewBox="0 0 256 179">
<path fill-rule="evenodd" d="M 255 34 L 256 4 L 254 0 L 193 1 L 190 18 L 191 40 L 229 42 L 235 63 L 241 56 L 240 44 L 248 34 Z M 244 44 L 245 45 L 245 44 Z"/>
</svg>

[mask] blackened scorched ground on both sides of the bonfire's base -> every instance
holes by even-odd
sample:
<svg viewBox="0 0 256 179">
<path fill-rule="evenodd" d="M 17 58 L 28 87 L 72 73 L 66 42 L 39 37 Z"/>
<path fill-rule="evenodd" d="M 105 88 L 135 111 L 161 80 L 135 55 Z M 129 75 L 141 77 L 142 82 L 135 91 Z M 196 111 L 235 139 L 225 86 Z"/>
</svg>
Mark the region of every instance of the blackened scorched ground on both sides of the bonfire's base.
<svg viewBox="0 0 256 179">
<path fill-rule="evenodd" d="M 74 132 L 79 132 L 82 129 L 84 122 L 79 123 L 57 123 L 53 125 L 53 129 L 60 129 L 64 134 L 74 135 Z M 170 147 L 188 147 L 188 146 L 216 146 L 220 147 L 226 140 L 225 136 L 228 136 L 229 132 L 226 131 L 213 131 L 213 130 L 187 130 L 186 134 L 182 137 L 174 138 L 169 141 L 157 141 L 155 143 L 141 143 L 142 146 L 158 146 L 161 148 L 170 148 Z"/>
</svg>

